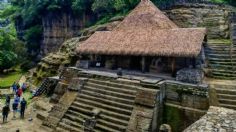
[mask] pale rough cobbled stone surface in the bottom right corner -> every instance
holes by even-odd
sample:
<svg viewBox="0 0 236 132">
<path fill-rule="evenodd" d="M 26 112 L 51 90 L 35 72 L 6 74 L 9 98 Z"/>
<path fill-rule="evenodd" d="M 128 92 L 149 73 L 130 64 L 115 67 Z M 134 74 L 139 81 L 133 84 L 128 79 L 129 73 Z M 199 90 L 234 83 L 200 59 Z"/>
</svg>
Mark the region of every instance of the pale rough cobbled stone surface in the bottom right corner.
<svg viewBox="0 0 236 132">
<path fill-rule="evenodd" d="M 236 111 L 212 106 L 206 115 L 185 129 L 184 132 L 234 132 L 235 130 Z"/>
</svg>

